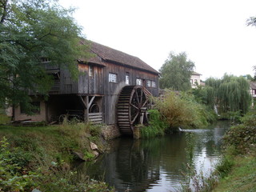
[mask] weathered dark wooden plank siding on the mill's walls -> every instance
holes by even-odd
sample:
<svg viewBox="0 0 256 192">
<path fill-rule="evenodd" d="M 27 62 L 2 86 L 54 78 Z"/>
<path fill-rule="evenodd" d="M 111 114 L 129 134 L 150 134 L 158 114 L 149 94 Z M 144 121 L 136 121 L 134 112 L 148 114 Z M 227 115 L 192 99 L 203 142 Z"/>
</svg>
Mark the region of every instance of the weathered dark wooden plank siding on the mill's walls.
<svg viewBox="0 0 256 192">
<path fill-rule="evenodd" d="M 126 86 L 126 74 L 129 74 L 129 85 L 136 85 L 136 79 L 142 79 L 142 86 L 154 96 L 158 96 L 158 74 L 134 69 L 128 66 L 103 62 L 105 66 L 94 64 L 78 64 L 80 71 L 78 81 L 73 81 L 68 70 L 60 70 L 60 89 L 50 94 L 98 95 L 102 97 L 102 119 L 107 125 L 116 123 L 116 105 L 118 95 Z M 90 67 L 93 75 L 90 76 Z M 52 68 L 46 68 L 52 70 Z M 117 82 L 109 82 L 109 74 L 117 75 Z M 154 81 L 155 87 L 148 87 L 146 81 Z"/>
</svg>

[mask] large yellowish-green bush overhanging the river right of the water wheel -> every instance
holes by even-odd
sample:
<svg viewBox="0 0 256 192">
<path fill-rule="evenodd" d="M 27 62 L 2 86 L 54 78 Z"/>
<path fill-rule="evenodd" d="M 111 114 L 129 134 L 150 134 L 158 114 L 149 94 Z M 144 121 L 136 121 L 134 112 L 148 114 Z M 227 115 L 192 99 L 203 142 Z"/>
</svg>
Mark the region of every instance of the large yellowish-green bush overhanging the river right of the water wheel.
<svg viewBox="0 0 256 192">
<path fill-rule="evenodd" d="M 163 99 L 155 99 L 155 107 L 171 128 L 203 127 L 215 119 L 213 110 L 196 102 L 193 95 L 166 90 Z"/>
</svg>

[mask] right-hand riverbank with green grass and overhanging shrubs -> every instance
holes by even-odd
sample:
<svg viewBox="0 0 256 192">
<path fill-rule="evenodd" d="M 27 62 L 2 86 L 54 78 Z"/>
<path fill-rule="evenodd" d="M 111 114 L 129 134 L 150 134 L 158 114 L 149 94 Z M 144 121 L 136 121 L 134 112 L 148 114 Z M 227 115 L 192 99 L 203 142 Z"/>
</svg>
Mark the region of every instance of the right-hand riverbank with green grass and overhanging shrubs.
<svg viewBox="0 0 256 192">
<path fill-rule="evenodd" d="M 223 158 L 202 190 L 256 191 L 256 112 L 250 111 L 241 123 L 232 126 L 223 138 Z M 215 182 L 215 176 L 218 182 Z M 210 189 L 210 190 L 206 190 Z"/>
</svg>

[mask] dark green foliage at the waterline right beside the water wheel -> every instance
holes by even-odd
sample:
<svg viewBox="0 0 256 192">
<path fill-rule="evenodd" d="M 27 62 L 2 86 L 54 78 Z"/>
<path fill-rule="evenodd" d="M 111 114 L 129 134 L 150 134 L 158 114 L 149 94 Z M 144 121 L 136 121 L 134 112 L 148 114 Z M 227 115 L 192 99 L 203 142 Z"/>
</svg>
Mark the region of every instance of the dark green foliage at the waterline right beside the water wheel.
<svg viewBox="0 0 256 192">
<path fill-rule="evenodd" d="M 141 136 L 142 138 L 152 138 L 165 134 L 165 130 L 168 128 L 166 120 L 162 118 L 158 110 L 149 110 L 150 123 L 148 126 L 142 126 Z"/>
</svg>

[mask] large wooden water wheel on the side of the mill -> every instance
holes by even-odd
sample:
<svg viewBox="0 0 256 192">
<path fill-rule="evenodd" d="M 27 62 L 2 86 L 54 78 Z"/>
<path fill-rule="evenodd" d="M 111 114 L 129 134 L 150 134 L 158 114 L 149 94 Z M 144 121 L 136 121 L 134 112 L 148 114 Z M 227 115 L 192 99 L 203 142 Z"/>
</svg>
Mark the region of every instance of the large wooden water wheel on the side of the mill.
<svg viewBox="0 0 256 192">
<path fill-rule="evenodd" d="M 122 134 L 133 135 L 134 126 L 146 124 L 150 92 L 143 86 L 124 86 L 118 98 L 118 126 Z"/>
</svg>

